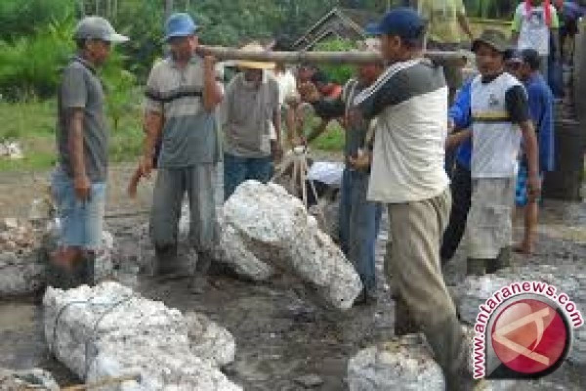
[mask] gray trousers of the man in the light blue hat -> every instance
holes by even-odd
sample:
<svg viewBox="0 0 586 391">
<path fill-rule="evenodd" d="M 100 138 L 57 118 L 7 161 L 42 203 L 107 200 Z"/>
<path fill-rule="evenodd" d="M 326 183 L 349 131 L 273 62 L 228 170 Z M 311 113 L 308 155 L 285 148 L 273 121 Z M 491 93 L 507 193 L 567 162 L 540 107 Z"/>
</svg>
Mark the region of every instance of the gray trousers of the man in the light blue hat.
<svg viewBox="0 0 586 391">
<path fill-rule="evenodd" d="M 189 198 L 189 243 L 198 251 L 214 244 L 213 164 L 158 170 L 151 211 L 151 239 L 156 247 L 176 246 L 181 203 Z"/>
</svg>

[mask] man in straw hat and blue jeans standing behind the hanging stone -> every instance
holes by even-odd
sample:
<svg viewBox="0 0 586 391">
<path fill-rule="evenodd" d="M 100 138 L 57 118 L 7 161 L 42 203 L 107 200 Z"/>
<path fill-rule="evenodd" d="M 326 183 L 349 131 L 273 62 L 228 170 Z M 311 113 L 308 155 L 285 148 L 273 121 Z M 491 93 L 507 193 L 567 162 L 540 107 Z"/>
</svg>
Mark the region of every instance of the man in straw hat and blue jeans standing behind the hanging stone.
<svg viewBox="0 0 586 391">
<path fill-rule="evenodd" d="M 244 50 L 261 51 L 251 43 Z M 224 124 L 224 199 L 247 179 L 268 182 L 273 166 L 271 128 L 281 146 L 281 105 L 279 84 L 267 70 L 274 63 L 240 61 L 242 73 L 226 87 L 226 124 Z"/>
</svg>

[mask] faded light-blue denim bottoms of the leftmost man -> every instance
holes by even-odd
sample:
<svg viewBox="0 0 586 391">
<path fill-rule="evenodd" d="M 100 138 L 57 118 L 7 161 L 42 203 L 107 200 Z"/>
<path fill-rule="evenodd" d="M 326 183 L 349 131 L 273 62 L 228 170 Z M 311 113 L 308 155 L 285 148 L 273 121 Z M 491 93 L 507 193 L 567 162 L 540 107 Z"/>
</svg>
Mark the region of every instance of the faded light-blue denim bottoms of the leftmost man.
<svg viewBox="0 0 586 391">
<path fill-rule="evenodd" d="M 60 222 L 60 246 L 99 250 L 102 244 L 106 184 L 91 183 L 90 197 L 82 201 L 76 197 L 73 179 L 57 168 L 53 172 L 51 188 Z"/>
</svg>

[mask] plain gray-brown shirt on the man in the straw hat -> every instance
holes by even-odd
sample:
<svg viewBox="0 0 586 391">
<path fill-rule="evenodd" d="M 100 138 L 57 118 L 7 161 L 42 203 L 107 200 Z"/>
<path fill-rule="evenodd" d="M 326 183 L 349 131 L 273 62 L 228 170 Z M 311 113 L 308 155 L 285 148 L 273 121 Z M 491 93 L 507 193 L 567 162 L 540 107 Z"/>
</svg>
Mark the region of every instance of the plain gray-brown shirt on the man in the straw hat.
<svg viewBox="0 0 586 391">
<path fill-rule="evenodd" d="M 224 150 L 244 158 L 271 155 L 271 124 L 280 110 L 279 85 L 267 72 L 258 88 L 248 85 L 241 73 L 226 88 L 226 144 Z"/>
</svg>

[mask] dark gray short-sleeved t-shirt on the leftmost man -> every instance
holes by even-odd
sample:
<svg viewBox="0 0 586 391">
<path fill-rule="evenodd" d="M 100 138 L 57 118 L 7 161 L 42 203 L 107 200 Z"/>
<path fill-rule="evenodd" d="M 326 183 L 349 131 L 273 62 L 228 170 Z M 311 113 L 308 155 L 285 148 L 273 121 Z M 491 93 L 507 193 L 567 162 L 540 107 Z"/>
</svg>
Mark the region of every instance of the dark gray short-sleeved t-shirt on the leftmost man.
<svg viewBox="0 0 586 391">
<path fill-rule="evenodd" d="M 108 169 L 108 130 L 104 114 L 104 90 L 96 72 L 75 57 L 63 70 L 57 94 L 57 151 L 62 169 L 73 176 L 69 151 L 72 108 L 83 109 L 83 146 L 86 174 L 91 182 L 105 182 Z"/>
</svg>

